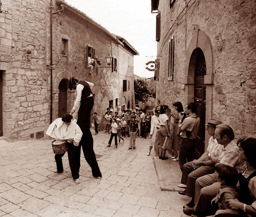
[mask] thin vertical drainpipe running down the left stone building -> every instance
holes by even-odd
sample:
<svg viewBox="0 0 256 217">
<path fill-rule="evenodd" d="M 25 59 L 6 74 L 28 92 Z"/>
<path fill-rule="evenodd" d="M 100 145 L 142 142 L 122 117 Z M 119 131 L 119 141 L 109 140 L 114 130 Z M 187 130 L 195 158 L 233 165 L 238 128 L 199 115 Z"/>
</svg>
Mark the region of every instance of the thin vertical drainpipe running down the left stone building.
<svg viewBox="0 0 256 217">
<path fill-rule="evenodd" d="M 50 74 L 51 74 L 51 87 L 50 87 L 50 95 L 51 95 L 51 100 L 50 100 L 50 123 L 52 123 L 52 0 L 51 0 L 51 7 L 50 7 L 50 16 L 51 16 L 51 21 L 50 21 Z"/>
</svg>

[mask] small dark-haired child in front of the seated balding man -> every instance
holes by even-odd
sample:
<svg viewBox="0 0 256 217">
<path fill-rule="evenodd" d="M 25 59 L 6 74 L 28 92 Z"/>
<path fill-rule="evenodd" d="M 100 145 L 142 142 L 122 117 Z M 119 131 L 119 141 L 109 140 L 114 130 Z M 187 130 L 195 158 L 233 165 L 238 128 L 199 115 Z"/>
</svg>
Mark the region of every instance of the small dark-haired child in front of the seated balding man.
<svg viewBox="0 0 256 217">
<path fill-rule="evenodd" d="M 216 175 L 218 175 L 218 181 L 221 182 L 221 187 L 215 198 L 212 199 L 211 204 L 217 203 L 219 206 L 218 210 L 227 210 L 229 214 L 237 215 L 238 211 L 231 210 L 228 202 L 229 199 L 238 199 L 239 193 L 236 184 L 238 182 L 238 172 L 235 168 L 225 165 L 218 164 L 216 166 Z M 215 213 L 218 214 L 218 211 Z"/>
</svg>

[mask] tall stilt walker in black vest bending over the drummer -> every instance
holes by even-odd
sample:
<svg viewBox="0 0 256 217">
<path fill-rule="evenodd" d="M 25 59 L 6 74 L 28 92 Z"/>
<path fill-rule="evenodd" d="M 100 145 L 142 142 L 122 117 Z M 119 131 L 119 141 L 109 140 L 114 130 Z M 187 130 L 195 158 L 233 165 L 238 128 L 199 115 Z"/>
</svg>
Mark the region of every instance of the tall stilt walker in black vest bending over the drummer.
<svg viewBox="0 0 256 217">
<path fill-rule="evenodd" d="M 76 101 L 71 110 L 71 114 L 76 116 L 77 112 L 77 124 L 83 132 L 82 139 L 77 147 L 76 160 L 80 168 L 80 155 L 81 146 L 84 152 L 84 157 L 89 166 L 92 168 L 92 176 L 94 178 L 102 177 L 100 168 L 98 166 L 95 153 L 93 151 L 93 138 L 90 131 L 90 118 L 91 110 L 94 104 L 91 87 L 93 83 L 88 81 L 78 81 L 74 77 L 69 80 L 68 88 L 70 90 L 76 90 Z"/>
</svg>

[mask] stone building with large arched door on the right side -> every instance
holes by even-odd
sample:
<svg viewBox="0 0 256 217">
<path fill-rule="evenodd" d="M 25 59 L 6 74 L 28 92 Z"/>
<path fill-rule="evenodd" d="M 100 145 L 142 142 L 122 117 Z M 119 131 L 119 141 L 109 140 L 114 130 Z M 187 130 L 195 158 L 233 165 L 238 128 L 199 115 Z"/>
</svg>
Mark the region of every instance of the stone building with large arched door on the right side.
<svg viewBox="0 0 256 217">
<path fill-rule="evenodd" d="M 197 105 L 197 151 L 210 118 L 255 137 L 255 1 L 151 0 L 156 12 L 156 103 Z M 205 141 L 205 146 L 204 146 Z"/>
</svg>

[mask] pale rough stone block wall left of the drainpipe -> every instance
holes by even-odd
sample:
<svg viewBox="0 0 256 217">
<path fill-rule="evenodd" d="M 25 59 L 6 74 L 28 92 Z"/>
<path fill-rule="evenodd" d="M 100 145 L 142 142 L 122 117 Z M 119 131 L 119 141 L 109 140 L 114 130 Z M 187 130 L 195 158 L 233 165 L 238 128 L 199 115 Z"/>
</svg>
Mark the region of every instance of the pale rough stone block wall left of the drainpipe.
<svg viewBox="0 0 256 217">
<path fill-rule="evenodd" d="M 44 130 L 50 118 L 45 60 L 46 1 L 1 3 L 0 59 L 8 61 L 7 70 L 3 71 L 4 137 L 28 139 Z M 32 50 L 28 57 L 26 47 Z"/>
</svg>

